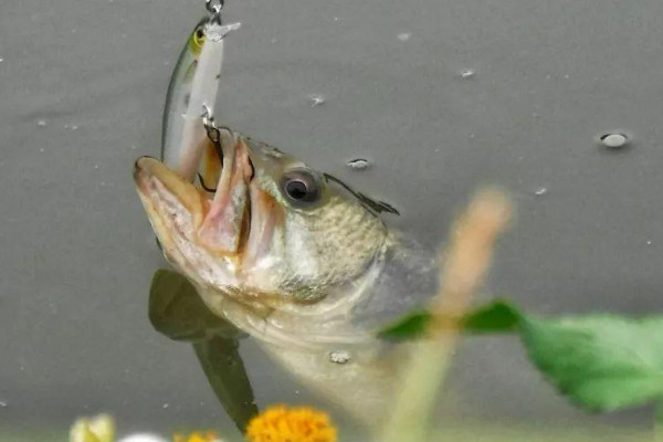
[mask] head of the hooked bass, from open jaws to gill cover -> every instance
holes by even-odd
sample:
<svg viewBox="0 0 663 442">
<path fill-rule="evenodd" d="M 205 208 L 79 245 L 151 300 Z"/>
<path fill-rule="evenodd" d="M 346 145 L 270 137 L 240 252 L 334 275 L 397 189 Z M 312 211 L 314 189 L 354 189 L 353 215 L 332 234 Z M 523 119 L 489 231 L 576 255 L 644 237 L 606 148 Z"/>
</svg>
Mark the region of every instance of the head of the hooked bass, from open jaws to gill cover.
<svg viewBox="0 0 663 442">
<path fill-rule="evenodd" d="M 360 277 L 388 236 L 380 208 L 266 144 L 221 130 L 215 191 L 143 157 L 134 178 L 167 259 L 204 288 L 313 303 Z M 208 182 L 209 186 L 209 182 Z"/>
</svg>

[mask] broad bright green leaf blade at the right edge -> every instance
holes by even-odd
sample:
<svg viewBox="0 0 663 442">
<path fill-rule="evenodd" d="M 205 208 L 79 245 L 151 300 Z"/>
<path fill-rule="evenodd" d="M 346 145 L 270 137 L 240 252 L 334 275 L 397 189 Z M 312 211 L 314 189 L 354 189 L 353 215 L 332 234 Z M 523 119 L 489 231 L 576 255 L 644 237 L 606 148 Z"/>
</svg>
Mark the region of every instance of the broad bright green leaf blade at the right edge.
<svg viewBox="0 0 663 442">
<path fill-rule="evenodd" d="M 663 399 L 663 318 L 590 315 L 527 318 L 532 361 L 569 400 L 613 411 Z"/>
</svg>

